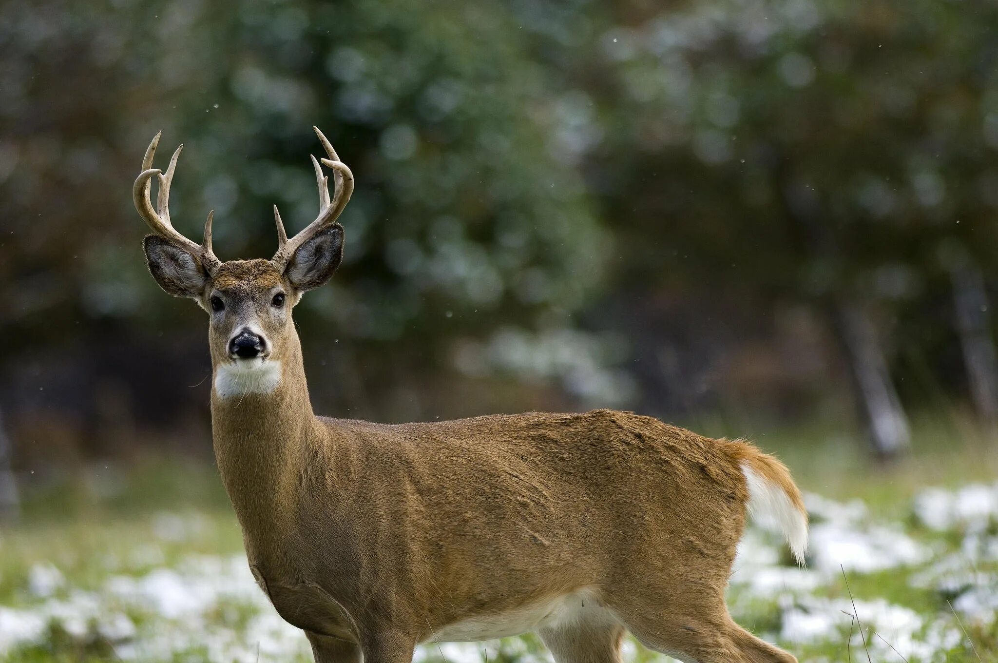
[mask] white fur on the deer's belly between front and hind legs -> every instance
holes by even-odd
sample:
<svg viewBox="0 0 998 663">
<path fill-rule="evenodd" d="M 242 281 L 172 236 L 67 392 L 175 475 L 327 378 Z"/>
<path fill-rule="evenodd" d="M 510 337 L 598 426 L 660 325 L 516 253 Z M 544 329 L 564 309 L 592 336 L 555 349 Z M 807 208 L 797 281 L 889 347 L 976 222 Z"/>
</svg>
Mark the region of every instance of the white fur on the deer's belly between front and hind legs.
<svg viewBox="0 0 998 663">
<path fill-rule="evenodd" d="M 588 588 L 496 614 L 476 615 L 436 630 L 430 642 L 494 640 L 528 631 L 558 628 L 579 622 L 614 622 L 616 619 Z"/>
</svg>

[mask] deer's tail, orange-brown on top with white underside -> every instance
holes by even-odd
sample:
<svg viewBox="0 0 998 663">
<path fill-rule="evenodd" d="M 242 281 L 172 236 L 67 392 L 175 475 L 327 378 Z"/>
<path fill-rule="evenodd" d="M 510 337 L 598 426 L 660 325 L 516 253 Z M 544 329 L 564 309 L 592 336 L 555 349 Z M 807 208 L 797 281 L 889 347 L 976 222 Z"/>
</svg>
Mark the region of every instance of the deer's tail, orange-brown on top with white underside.
<svg viewBox="0 0 998 663">
<path fill-rule="evenodd" d="M 807 552 L 807 509 L 800 490 L 790 478 L 790 470 L 749 442 L 728 444 L 728 452 L 746 477 L 749 515 L 763 527 L 786 537 L 793 557 L 803 565 Z"/>
</svg>

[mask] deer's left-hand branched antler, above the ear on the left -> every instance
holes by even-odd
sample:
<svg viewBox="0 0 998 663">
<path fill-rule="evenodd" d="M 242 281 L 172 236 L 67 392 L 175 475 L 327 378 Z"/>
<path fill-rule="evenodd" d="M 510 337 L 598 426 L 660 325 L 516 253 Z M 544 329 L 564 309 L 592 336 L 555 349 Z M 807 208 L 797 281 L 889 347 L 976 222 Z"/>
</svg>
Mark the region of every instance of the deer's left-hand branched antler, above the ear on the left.
<svg viewBox="0 0 998 663">
<path fill-rule="evenodd" d="M 177 168 L 177 158 L 181 156 L 183 145 L 177 148 L 174 156 L 170 158 L 170 166 L 166 174 L 163 171 L 153 168 L 153 157 L 156 156 L 156 148 L 160 144 L 160 136 L 163 132 L 156 134 L 153 142 L 146 149 L 146 156 L 142 159 L 142 173 L 135 180 L 132 187 L 132 198 L 135 201 L 135 209 L 146 221 L 153 233 L 170 240 L 178 246 L 186 249 L 190 253 L 201 259 L 201 264 L 205 270 L 214 275 L 215 271 L 222 265 L 215 252 L 212 251 L 212 217 L 214 211 L 208 213 L 208 221 L 205 222 L 205 240 L 200 245 L 192 242 L 177 232 L 173 224 L 170 223 L 170 184 L 174 180 L 174 170 Z M 153 209 L 153 202 L 150 200 L 150 188 L 153 176 L 159 178 L 160 195 L 157 198 L 157 210 Z"/>
</svg>

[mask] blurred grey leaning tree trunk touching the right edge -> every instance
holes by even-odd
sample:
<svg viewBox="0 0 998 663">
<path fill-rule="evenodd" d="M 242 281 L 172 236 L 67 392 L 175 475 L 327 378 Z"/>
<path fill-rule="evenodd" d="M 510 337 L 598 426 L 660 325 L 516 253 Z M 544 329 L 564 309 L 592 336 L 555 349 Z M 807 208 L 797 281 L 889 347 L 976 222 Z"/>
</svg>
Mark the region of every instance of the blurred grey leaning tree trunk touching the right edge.
<svg viewBox="0 0 998 663">
<path fill-rule="evenodd" d="M 989 431 L 994 431 L 998 423 L 998 359 L 991 337 L 984 276 L 968 255 L 950 262 L 949 275 L 953 283 L 956 331 L 963 347 L 970 394 L 981 422 Z"/>
</svg>

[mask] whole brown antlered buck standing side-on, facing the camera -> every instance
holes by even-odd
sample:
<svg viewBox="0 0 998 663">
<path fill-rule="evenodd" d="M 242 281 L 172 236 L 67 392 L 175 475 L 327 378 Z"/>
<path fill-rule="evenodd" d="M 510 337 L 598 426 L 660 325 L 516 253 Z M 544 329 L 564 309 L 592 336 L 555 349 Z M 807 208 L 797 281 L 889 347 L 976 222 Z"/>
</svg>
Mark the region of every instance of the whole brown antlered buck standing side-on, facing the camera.
<svg viewBox="0 0 998 663">
<path fill-rule="evenodd" d="M 353 175 L 317 128 L 318 216 L 269 260 L 175 230 L 146 150 L 133 198 L 153 279 L 209 316 L 212 437 L 250 570 L 316 663 L 410 663 L 417 645 L 536 632 L 557 663 L 619 663 L 625 634 L 686 663 L 795 662 L 725 592 L 749 515 L 798 563 L 789 470 L 743 440 L 630 411 L 384 424 L 313 413 L 291 321 L 343 255 Z M 333 194 L 329 194 L 329 169 Z M 156 208 L 150 191 L 158 181 Z"/>
</svg>

